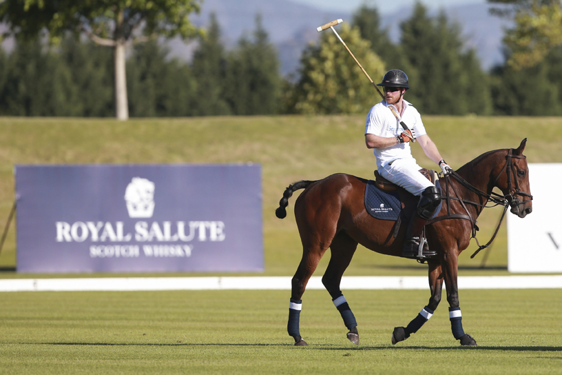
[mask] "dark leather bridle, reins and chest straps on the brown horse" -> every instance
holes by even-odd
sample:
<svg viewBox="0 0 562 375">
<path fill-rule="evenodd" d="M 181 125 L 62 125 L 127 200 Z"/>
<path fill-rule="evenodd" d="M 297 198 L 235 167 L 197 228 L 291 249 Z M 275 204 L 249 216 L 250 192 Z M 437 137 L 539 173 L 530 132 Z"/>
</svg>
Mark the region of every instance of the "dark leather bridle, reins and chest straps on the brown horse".
<svg viewBox="0 0 562 375">
<path fill-rule="evenodd" d="M 437 216 L 435 219 L 432 219 L 432 220 L 428 221 L 428 224 L 429 223 L 435 223 L 435 221 L 440 221 L 440 220 L 444 220 L 444 219 L 466 219 L 466 220 L 470 221 L 470 223 L 472 225 L 472 237 L 471 238 L 475 239 L 476 243 L 478 245 L 478 250 L 476 250 L 476 252 L 474 254 L 472 254 L 472 256 L 470 256 L 470 259 L 474 258 L 475 255 L 480 252 L 480 250 L 486 249 L 486 247 L 489 247 L 490 243 L 492 243 L 492 241 L 494 241 L 494 239 L 496 238 L 496 234 L 499 231 L 499 227 L 501 226 L 501 223 L 503 221 L 503 217 L 506 216 L 506 212 L 508 210 L 508 207 L 514 208 L 514 207 L 517 207 L 517 205 L 521 205 L 521 204 L 527 203 L 529 201 L 532 201 L 532 195 L 531 194 L 528 194 L 526 192 L 521 191 L 521 188 L 519 187 L 519 181 L 517 181 L 517 171 L 515 170 L 515 167 L 513 165 L 513 158 L 515 158 L 515 159 L 526 159 L 526 157 L 527 156 L 524 156 L 524 155 L 514 155 L 513 149 L 510 149 L 508 154 L 506 155 L 506 165 L 503 165 L 503 168 L 501 168 L 501 171 L 499 172 L 499 174 L 497 175 L 497 177 L 494 180 L 494 186 L 495 186 L 497 181 L 499 180 L 500 176 L 503 174 L 503 172 L 504 171 L 507 172 L 507 174 L 508 174 L 508 194 L 503 195 L 503 196 L 500 195 L 500 194 L 497 194 L 496 192 L 490 192 L 490 194 L 488 194 L 486 192 L 483 192 L 483 191 L 479 190 L 477 187 L 474 187 L 473 185 L 471 185 L 465 179 L 463 179 L 457 172 L 455 172 L 453 170 L 450 171 L 450 174 L 448 174 L 448 176 L 445 177 L 446 196 L 444 196 L 442 198 L 442 199 L 446 199 L 447 203 L 448 203 L 447 204 L 447 214 L 444 215 L 444 216 Z M 492 236 L 490 241 L 488 241 L 488 243 L 486 243 L 486 245 L 480 245 L 480 243 L 478 242 L 478 239 L 476 238 L 476 232 L 477 232 L 477 230 L 479 230 L 479 228 L 476 225 L 476 220 L 472 218 L 472 215 L 470 215 L 470 212 L 468 211 L 468 208 L 466 207 L 466 205 L 464 203 L 477 205 L 477 206 L 480 206 L 480 207 L 488 207 L 488 206 L 481 205 L 481 204 L 476 203 L 476 202 L 466 201 L 464 199 L 461 199 L 459 194 L 457 194 L 457 192 L 455 191 L 455 187 L 450 183 L 450 176 L 452 176 L 455 180 L 457 180 L 461 185 L 466 187 L 468 190 L 470 190 L 472 192 L 475 192 L 477 195 L 482 196 L 483 198 L 486 198 L 488 201 L 492 201 L 493 203 L 495 203 L 495 205 L 492 205 L 490 207 L 495 207 L 496 205 L 503 205 L 503 214 L 501 214 L 501 218 L 499 219 L 499 223 L 496 227 L 494 235 Z M 449 194 L 448 194 L 449 186 L 451 187 L 451 190 L 455 194 L 456 197 L 449 196 Z M 514 186 L 515 186 L 515 188 L 514 188 Z M 519 201 L 517 196 L 523 196 L 527 199 L 524 200 L 524 201 Z M 461 203 L 462 207 L 466 211 L 466 215 L 465 214 L 451 214 L 450 213 L 450 204 L 449 203 L 450 203 L 451 199 L 457 200 Z"/>
</svg>

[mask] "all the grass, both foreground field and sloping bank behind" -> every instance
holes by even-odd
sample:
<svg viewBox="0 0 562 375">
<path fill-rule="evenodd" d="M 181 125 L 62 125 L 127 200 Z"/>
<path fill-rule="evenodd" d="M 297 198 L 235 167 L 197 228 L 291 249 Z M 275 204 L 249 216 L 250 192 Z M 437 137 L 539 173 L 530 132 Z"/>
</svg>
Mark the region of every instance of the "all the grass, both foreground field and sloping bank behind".
<svg viewBox="0 0 562 375">
<path fill-rule="evenodd" d="M 561 118 L 424 117 L 441 154 L 459 168 L 479 154 L 512 148 L 527 137 L 530 163 L 562 162 Z M 0 224 L 14 201 L 15 164 L 260 163 L 265 276 L 292 275 L 300 242 L 291 199 L 275 218 L 281 194 L 300 179 L 335 172 L 371 178 L 363 116 L 253 116 L 194 119 L 0 119 Z M 548 134 L 548 135 L 547 135 Z M 419 163 L 435 168 L 413 146 Z M 531 185 L 532 189 L 532 185 Z M 481 242 L 500 212 L 479 219 Z M 12 224 L 0 253 L 0 278 L 16 266 Z M 481 268 L 481 254 L 461 256 L 461 276 L 508 274 L 505 226 Z M 323 273 L 325 256 L 315 275 Z M 346 275 L 422 275 L 414 261 L 356 252 Z M 92 275 L 85 275 L 92 276 Z M 94 276 L 129 276 L 96 274 Z M 144 275 L 150 276 L 150 275 Z M 166 274 L 158 276 L 178 276 Z M 196 276 L 181 274 L 180 276 Z M 198 275 L 200 276 L 200 275 Z M 289 292 L 17 292 L 0 293 L 0 374 L 559 374 L 562 290 L 461 290 L 464 329 L 479 347 L 459 347 L 446 301 L 422 329 L 391 345 L 429 292 L 344 291 L 361 343 L 346 329 L 325 291 L 304 294 L 301 333 L 287 335 Z"/>
</svg>

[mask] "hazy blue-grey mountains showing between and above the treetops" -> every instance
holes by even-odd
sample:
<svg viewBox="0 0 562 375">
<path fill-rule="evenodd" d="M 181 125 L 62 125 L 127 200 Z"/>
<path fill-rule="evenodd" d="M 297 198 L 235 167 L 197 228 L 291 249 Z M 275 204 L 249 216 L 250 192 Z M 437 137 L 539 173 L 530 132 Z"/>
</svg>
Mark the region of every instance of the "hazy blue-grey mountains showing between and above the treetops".
<svg viewBox="0 0 562 375">
<path fill-rule="evenodd" d="M 508 22 L 492 17 L 487 4 L 470 4 L 444 8 L 449 21 L 460 23 L 468 47 L 475 48 L 486 70 L 503 62 L 501 39 L 503 27 Z M 410 17 L 412 7 L 403 8 L 390 14 L 382 14 L 382 23 L 390 31 L 394 41 L 399 40 L 399 23 Z M 211 12 L 216 14 L 222 28 L 223 41 L 227 48 L 236 45 L 244 34 L 250 35 L 255 28 L 256 14 L 262 17 L 269 39 L 280 52 L 281 72 L 287 75 L 298 68 L 302 49 L 308 43 L 318 40 L 316 28 L 333 19 L 351 21 L 351 14 L 324 12 L 313 6 L 304 6 L 290 0 L 205 0 L 202 11 L 192 20 L 198 26 L 209 22 Z M 433 12 L 435 14 L 436 12 Z M 171 54 L 188 60 L 194 44 L 171 41 Z"/>
</svg>

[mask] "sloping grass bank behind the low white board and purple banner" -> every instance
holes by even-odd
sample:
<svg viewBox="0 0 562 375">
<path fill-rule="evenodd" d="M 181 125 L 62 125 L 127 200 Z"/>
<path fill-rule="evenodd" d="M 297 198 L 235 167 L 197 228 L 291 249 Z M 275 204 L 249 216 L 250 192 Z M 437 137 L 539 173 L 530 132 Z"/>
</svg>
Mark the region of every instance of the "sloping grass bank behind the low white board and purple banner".
<svg viewBox="0 0 562 375">
<path fill-rule="evenodd" d="M 425 116 L 424 123 L 453 168 L 479 154 L 517 147 L 529 139 L 530 163 L 562 162 L 562 118 Z M 0 119 L 0 225 L 14 201 L 15 164 L 36 163 L 260 163 L 263 179 L 264 275 L 291 275 L 301 245 L 289 203 L 287 219 L 273 212 L 289 183 L 321 179 L 336 172 L 373 176 L 375 159 L 364 145 L 363 116 L 238 116 L 190 119 Z M 545 136 L 548 134 L 548 136 Z M 413 145 L 420 165 L 437 168 Z M 532 188 L 532 186 L 531 186 Z M 501 210 L 485 210 L 479 218 L 479 239 L 485 243 Z M 15 267 L 15 228 L 10 227 L 0 253 L 0 269 Z M 460 259 L 461 274 L 507 274 L 505 225 L 492 245 L 486 269 L 475 259 L 473 243 Z M 317 274 L 325 269 L 322 259 Z M 348 275 L 425 274 L 426 268 L 407 259 L 355 254 Z M 0 277 L 19 277 L 2 272 Z M 25 276 L 25 275 L 23 275 Z M 36 275 L 37 276 L 37 275 Z M 40 276 L 40 275 L 39 275 Z"/>
</svg>

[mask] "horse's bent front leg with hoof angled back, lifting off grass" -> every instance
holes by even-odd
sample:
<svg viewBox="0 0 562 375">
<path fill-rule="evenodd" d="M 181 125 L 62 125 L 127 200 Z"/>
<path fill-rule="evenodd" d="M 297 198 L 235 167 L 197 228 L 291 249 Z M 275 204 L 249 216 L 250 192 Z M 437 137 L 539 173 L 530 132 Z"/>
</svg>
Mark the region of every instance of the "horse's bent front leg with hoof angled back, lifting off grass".
<svg viewBox="0 0 562 375">
<path fill-rule="evenodd" d="M 441 290 L 443 288 L 443 273 L 441 272 L 441 264 L 435 261 L 428 262 L 429 289 L 431 296 L 426 307 L 421 309 L 419 314 L 410 321 L 406 327 L 395 327 L 392 334 L 392 343 L 395 345 L 400 341 L 406 340 L 410 334 L 415 334 L 426 321 L 433 316 L 435 309 L 441 302 Z"/>
</svg>

